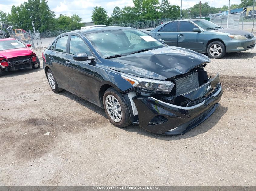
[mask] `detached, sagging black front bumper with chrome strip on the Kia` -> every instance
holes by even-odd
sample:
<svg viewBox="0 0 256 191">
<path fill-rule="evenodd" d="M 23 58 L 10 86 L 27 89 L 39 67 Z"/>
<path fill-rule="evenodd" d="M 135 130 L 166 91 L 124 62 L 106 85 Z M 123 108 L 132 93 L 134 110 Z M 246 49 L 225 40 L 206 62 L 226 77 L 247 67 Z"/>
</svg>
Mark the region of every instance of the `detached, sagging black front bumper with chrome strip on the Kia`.
<svg viewBox="0 0 256 191">
<path fill-rule="evenodd" d="M 203 88 L 198 88 L 198 92 Z M 190 95 L 192 94 L 193 92 L 190 92 Z M 133 98 L 133 101 L 138 110 L 139 126 L 142 129 L 156 134 L 182 135 L 202 123 L 216 110 L 222 94 L 222 87 L 218 83 L 218 90 L 212 91 L 204 101 L 191 107 L 165 103 L 153 97 Z M 156 116 L 161 116 L 161 122 L 151 123 Z"/>
</svg>

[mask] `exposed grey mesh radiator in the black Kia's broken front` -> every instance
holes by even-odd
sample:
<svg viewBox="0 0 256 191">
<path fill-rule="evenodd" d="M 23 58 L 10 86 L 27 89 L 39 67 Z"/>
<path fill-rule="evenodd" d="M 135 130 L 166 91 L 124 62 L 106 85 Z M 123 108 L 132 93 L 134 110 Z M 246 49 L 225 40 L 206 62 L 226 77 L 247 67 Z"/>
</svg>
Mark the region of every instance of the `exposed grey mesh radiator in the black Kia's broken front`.
<svg viewBox="0 0 256 191">
<path fill-rule="evenodd" d="M 199 87 L 198 72 L 175 79 L 176 95 L 184 94 Z"/>
</svg>

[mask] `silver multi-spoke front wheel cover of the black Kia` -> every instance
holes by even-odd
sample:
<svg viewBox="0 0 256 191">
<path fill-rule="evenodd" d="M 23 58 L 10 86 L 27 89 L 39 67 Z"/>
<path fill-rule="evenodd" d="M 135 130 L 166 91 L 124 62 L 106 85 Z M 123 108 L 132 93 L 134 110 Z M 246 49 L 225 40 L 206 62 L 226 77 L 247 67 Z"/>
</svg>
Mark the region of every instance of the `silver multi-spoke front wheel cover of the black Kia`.
<svg viewBox="0 0 256 191">
<path fill-rule="evenodd" d="M 122 110 L 118 100 L 113 95 L 108 95 L 105 100 L 105 106 L 108 115 L 115 122 L 120 122 L 122 119 Z"/>
</svg>

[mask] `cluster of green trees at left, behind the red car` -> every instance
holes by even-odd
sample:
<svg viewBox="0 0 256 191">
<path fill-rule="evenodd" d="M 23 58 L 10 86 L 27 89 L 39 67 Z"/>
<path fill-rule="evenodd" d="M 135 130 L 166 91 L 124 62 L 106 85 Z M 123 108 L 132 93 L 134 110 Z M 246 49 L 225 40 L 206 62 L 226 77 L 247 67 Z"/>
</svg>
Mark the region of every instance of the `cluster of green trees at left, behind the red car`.
<svg viewBox="0 0 256 191">
<path fill-rule="evenodd" d="M 55 14 L 48 6 L 46 0 L 28 0 L 19 6 L 12 6 L 11 13 L 5 13 L 0 10 L 0 24 L 7 24 L 15 28 L 24 30 L 35 29 L 52 30 L 57 28 L 80 27 L 82 18 L 77 14 L 71 17 L 60 14 L 55 18 Z"/>
</svg>

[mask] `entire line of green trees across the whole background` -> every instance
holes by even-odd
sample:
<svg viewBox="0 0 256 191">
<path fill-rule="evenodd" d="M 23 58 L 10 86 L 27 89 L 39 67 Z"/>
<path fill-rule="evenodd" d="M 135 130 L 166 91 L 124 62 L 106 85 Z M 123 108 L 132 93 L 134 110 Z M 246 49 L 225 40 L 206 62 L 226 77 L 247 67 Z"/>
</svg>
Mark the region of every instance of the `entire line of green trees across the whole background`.
<svg viewBox="0 0 256 191">
<path fill-rule="evenodd" d="M 252 6 L 253 0 L 241 0 L 241 3 L 232 4 L 231 9 Z M 199 15 L 200 5 L 197 3 L 191 8 L 182 9 L 182 16 Z M 221 8 L 211 7 L 211 13 L 219 13 L 228 10 L 228 6 Z M 202 15 L 210 12 L 208 3 L 201 4 Z M 24 30 L 32 29 L 32 21 L 35 29 L 52 30 L 58 28 L 80 27 L 82 19 L 77 14 L 71 17 L 60 14 L 55 18 L 55 14 L 48 6 L 46 0 L 28 0 L 19 6 L 12 6 L 10 13 L 0 11 L 0 24 L 7 24 L 15 28 Z M 116 6 L 111 15 L 103 7 L 94 7 L 92 10 L 91 20 L 96 24 L 115 24 L 118 22 L 128 22 L 136 20 L 155 20 L 161 18 L 179 18 L 180 7 L 172 5 L 168 0 L 133 0 L 133 6 L 120 8 Z"/>
</svg>

